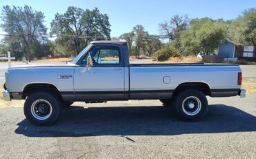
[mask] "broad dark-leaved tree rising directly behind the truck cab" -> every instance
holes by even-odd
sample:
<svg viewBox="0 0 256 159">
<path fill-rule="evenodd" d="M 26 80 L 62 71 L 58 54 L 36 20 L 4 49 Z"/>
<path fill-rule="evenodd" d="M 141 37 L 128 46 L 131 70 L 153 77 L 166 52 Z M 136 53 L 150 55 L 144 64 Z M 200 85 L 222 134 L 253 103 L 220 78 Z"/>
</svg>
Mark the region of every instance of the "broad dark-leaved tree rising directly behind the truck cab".
<svg viewBox="0 0 256 159">
<path fill-rule="evenodd" d="M 94 37 L 110 39 L 110 31 L 109 17 L 98 8 L 84 11 L 70 6 L 64 14 L 57 13 L 51 22 L 51 35 L 60 35 L 57 41 L 62 42 L 62 46 L 73 44 L 76 54 Z"/>
</svg>

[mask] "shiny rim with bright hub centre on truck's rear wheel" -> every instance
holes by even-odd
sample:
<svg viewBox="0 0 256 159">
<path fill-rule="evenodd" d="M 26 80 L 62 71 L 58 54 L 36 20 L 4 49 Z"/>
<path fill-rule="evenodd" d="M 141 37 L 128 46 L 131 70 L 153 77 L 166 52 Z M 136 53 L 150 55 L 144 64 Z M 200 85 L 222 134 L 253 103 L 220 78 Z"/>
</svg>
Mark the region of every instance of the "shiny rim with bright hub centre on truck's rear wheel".
<svg viewBox="0 0 256 159">
<path fill-rule="evenodd" d="M 182 109 L 186 115 L 196 115 L 201 111 L 201 101 L 195 96 L 186 97 L 183 100 Z"/>
</svg>

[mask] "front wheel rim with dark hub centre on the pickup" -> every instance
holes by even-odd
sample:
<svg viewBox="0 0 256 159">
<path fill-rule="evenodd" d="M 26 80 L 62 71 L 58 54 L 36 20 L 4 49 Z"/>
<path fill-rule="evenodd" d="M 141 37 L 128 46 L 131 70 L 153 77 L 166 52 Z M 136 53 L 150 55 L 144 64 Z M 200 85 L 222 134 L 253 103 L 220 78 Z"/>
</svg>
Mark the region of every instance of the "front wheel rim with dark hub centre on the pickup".
<svg viewBox="0 0 256 159">
<path fill-rule="evenodd" d="M 37 120 L 46 120 L 53 113 L 53 108 L 46 100 L 36 100 L 31 106 L 31 113 Z"/>
</svg>

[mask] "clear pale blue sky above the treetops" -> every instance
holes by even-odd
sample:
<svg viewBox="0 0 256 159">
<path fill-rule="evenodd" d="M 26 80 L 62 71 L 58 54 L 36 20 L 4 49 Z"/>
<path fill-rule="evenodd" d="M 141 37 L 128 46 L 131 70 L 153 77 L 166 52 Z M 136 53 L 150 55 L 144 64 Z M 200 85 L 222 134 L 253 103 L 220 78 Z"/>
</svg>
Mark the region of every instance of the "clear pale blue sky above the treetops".
<svg viewBox="0 0 256 159">
<path fill-rule="evenodd" d="M 44 12 L 44 24 L 48 30 L 55 14 L 66 12 L 68 6 L 84 10 L 96 7 L 109 16 L 111 37 L 118 37 L 130 32 L 137 24 L 143 25 L 149 34 L 159 35 L 161 32 L 158 24 L 168 21 L 176 14 L 187 14 L 190 19 L 235 19 L 245 9 L 255 8 L 256 0 L 0 0 L 0 8 L 6 5 L 28 5 L 33 10 Z M 0 30 L 1 33 L 3 31 Z"/>
</svg>

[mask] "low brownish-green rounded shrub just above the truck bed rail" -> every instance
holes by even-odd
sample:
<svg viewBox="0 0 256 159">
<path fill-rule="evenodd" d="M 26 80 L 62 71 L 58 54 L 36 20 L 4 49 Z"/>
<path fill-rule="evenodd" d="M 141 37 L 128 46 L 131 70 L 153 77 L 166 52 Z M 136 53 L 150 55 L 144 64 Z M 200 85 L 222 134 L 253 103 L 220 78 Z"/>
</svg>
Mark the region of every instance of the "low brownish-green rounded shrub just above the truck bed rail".
<svg viewBox="0 0 256 159">
<path fill-rule="evenodd" d="M 174 46 L 167 44 L 155 53 L 156 59 L 159 62 L 167 61 L 170 57 L 180 57 L 179 50 Z"/>
</svg>

